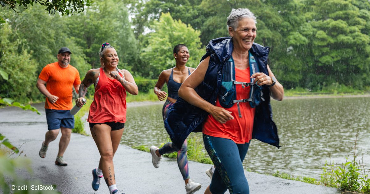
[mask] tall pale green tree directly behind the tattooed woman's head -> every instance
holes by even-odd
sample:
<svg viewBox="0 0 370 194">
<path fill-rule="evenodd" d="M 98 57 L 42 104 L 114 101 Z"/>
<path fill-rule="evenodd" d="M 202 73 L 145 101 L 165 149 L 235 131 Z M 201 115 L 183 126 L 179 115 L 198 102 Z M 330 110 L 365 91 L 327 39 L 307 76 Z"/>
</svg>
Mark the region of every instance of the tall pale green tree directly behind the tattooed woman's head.
<svg viewBox="0 0 370 194">
<path fill-rule="evenodd" d="M 137 64 L 137 41 L 121 1 L 95 1 L 84 13 L 68 17 L 68 28 L 93 68 L 100 67 L 98 52 L 104 42 L 117 50 L 120 68 L 130 69 Z"/>
</svg>

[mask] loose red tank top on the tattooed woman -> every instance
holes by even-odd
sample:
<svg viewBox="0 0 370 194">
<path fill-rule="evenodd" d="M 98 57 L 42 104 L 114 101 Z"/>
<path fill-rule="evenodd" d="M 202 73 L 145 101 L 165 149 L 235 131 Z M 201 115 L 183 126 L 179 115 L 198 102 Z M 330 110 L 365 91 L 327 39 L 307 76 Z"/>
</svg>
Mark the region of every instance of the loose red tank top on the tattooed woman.
<svg viewBox="0 0 370 194">
<path fill-rule="evenodd" d="M 103 68 L 100 68 L 87 122 L 126 122 L 126 89 L 116 79 L 109 79 Z"/>
</svg>

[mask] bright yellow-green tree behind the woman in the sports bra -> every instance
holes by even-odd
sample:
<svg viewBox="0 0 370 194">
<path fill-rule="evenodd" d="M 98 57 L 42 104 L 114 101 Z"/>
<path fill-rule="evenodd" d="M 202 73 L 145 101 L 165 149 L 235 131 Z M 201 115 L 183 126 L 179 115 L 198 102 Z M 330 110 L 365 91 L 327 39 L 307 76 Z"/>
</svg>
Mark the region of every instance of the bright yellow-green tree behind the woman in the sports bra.
<svg viewBox="0 0 370 194">
<path fill-rule="evenodd" d="M 181 20 L 173 20 L 169 13 L 162 13 L 152 28 L 155 32 L 145 37 L 148 45 L 141 52 L 141 57 L 146 62 L 145 67 L 141 67 L 147 71 L 145 76 L 155 79 L 162 70 L 173 67 L 173 48 L 177 44 L 185 44 L 189 49 L 190 58 L 186 65 L 196 67 L 199 64 L 199 59 L 205 51 L 201 50 L 198 30 L 182 23 Z"/>
</svg>

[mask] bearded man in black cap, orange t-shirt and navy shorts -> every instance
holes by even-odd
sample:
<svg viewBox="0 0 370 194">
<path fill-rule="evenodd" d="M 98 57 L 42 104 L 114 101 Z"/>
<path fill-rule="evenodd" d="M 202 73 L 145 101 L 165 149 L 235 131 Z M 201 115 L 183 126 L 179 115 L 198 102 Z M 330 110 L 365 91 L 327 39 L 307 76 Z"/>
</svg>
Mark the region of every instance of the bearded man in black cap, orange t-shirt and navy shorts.
<svg viewBox="0 0 370 194">
<path fill-rule="evenodd" d="M 45 113 L 48 125 L 48 132 L 45 134 L 45 141 L 39 155 L 41 158 L 46 156 L 49 143 L 57 138 L 60 129 L 62 136 L 55 164 L 67 166 L 63 154 L 70 142 L 71 132 L 74 128 L 74 116 L 70 113 L 73 106 L 72 86 L 78 93 L 81 79 L 77 69 L 69 64 L 71 51 L 67 47 L 62 47 L 58 51 L 57 58 L 58 62 L 46 65 L 37 79 L 38 90 L 46 96 Z"/>
</svg>

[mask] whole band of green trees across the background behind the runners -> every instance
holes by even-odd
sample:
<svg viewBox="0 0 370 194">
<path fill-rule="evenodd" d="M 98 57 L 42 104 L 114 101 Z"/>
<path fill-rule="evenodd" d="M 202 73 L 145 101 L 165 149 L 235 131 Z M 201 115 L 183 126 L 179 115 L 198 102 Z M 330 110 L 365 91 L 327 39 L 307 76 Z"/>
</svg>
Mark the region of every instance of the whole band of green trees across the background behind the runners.
<svg viewBox="0 0 370 194">
<path fill-rule="evenodd" d="M 48 15 L 37 2 L 14 7 L 19 13 L 0 9 L 6 20 L 0 27 L 1 98 L 43 99 L 34 86 L 37 75 L 62 46 L 73 52 L 81 78 L 100 67 L 103 42 L 117 49 L 120 68 L 135 77 L 158 78 L 174 65 L 172 48 L 179 43 L 188 45 L 188 65 L 196 67 L 209 40 L 228 36 L 226 17 L 241 7 L 255 13 L 255 42 L 271 47 L 269 65 L 286 89 L 370 90 L 368 0 L 98 0 L 80 1 L 88 7 L 72 8 L 68 16 L 59 9 L 62 14 Z"/>
</svg>

